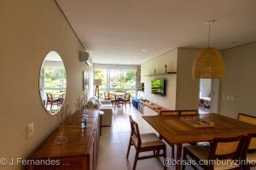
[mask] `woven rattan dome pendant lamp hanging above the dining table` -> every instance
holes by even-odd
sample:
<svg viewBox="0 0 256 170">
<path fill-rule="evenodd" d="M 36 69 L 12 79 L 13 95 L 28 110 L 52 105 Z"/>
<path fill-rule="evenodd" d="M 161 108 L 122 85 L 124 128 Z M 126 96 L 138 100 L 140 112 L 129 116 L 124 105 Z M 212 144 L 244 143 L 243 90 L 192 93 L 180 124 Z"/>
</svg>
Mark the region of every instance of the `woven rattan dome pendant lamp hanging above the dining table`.
<svg viewBox="0 0 256 170">
<path fill-rule="evenodd" d="M 210 47 L 211 24 L 215 20 L 208 20 L 208 47 L 196 55 L 193 66 L 193 78 L 222 78 L 224 77 L 224 59 L 217 48 Z"/>
</svg>

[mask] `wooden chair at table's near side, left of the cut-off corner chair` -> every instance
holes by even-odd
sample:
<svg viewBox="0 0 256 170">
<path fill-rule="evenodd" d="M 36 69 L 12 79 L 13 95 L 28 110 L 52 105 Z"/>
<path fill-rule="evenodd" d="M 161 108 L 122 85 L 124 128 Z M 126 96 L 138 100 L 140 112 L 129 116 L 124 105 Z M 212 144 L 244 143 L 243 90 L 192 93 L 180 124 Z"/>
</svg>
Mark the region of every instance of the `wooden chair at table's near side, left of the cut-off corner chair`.
<svg viewBox="0 0 256 170">
<path fill-rule="evenodd" d="M 231 160 L 238 160 L 241 158 L 241 149 L 244 144 L 244 136 L 238 136 L 234 138 L 224 138 L 224 139 L 213 139 L 210 145 L 190 145 L 183 148 L 183 160 L 188 160 L 187 156 L 195 160 L 197 163 L 201 160 L 218 160 L 224 162 L 224 164 L 219 165 L 216 163 L 210 163 L 209 165 L 200 165 L 204 169 L 241 169 L 239 164 L 230 164 Z M 195 165 L 191 165 L 195 168 Z M 183 164 L 182 169 L 185 169 Z M 197 169 L 197 168 L 195 168 Z"/>
</svg>

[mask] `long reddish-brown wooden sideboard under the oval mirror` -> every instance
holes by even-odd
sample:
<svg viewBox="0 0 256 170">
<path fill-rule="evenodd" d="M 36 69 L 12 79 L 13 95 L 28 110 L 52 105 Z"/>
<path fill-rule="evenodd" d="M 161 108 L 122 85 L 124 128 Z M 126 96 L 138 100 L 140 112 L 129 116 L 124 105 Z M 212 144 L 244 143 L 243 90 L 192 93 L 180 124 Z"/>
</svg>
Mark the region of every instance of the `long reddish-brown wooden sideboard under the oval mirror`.
<svg viewBox="0 0 256 170">
<path fill-rule="evenodd" d="M 87 126 L 81 128 L 80 122 L 83 111 L 76 111 L 65 122 L 65 136 L 67 143 L 55 144 L 55 138 L 59 135 L 59 128 L 34 150 L 28 160 L 45 161 L 55 163 L 49 165 L 28 165 L 28 170 L 56 169 L 56 170 L 94 170 L 96 169 L 96 157 L 98 154 L 100 115 L 99 111 L 90 111 L 87 117 Z M 47 161 L 46 161 L 47 162 Z M 55 165 L 53 165 L 55 164 Z"/>
</svg>

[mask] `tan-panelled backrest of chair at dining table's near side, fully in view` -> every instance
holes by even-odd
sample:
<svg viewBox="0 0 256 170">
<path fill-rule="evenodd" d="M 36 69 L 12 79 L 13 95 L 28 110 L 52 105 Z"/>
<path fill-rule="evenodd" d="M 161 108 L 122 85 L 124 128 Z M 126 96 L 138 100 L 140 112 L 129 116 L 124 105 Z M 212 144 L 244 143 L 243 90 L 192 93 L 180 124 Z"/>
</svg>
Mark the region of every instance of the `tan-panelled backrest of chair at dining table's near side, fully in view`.
<svg viewBox="0 0 256 170">
<path fill-rule="evenodd" d="M 213 139 L 209 159 L 234 159 L 241 157 L 244 136 Z"/>
</svg>

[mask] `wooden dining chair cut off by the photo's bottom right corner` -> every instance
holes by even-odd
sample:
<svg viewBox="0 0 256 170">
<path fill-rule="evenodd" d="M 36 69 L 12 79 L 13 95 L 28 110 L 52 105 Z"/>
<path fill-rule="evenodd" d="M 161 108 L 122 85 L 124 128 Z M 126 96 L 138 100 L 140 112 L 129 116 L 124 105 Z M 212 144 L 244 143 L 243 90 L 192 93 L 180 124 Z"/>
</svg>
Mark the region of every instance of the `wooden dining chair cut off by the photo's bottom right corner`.
<svg viewBox="0 0 256 170">
<path fill-rule="evenodd" d="M 246 160 L 244 169 L 249 170 L 250 167 L 256 167 L 256 133 L 250 133 L 247 135 L 243 158 L 243 160 Z"/>
</svg>

